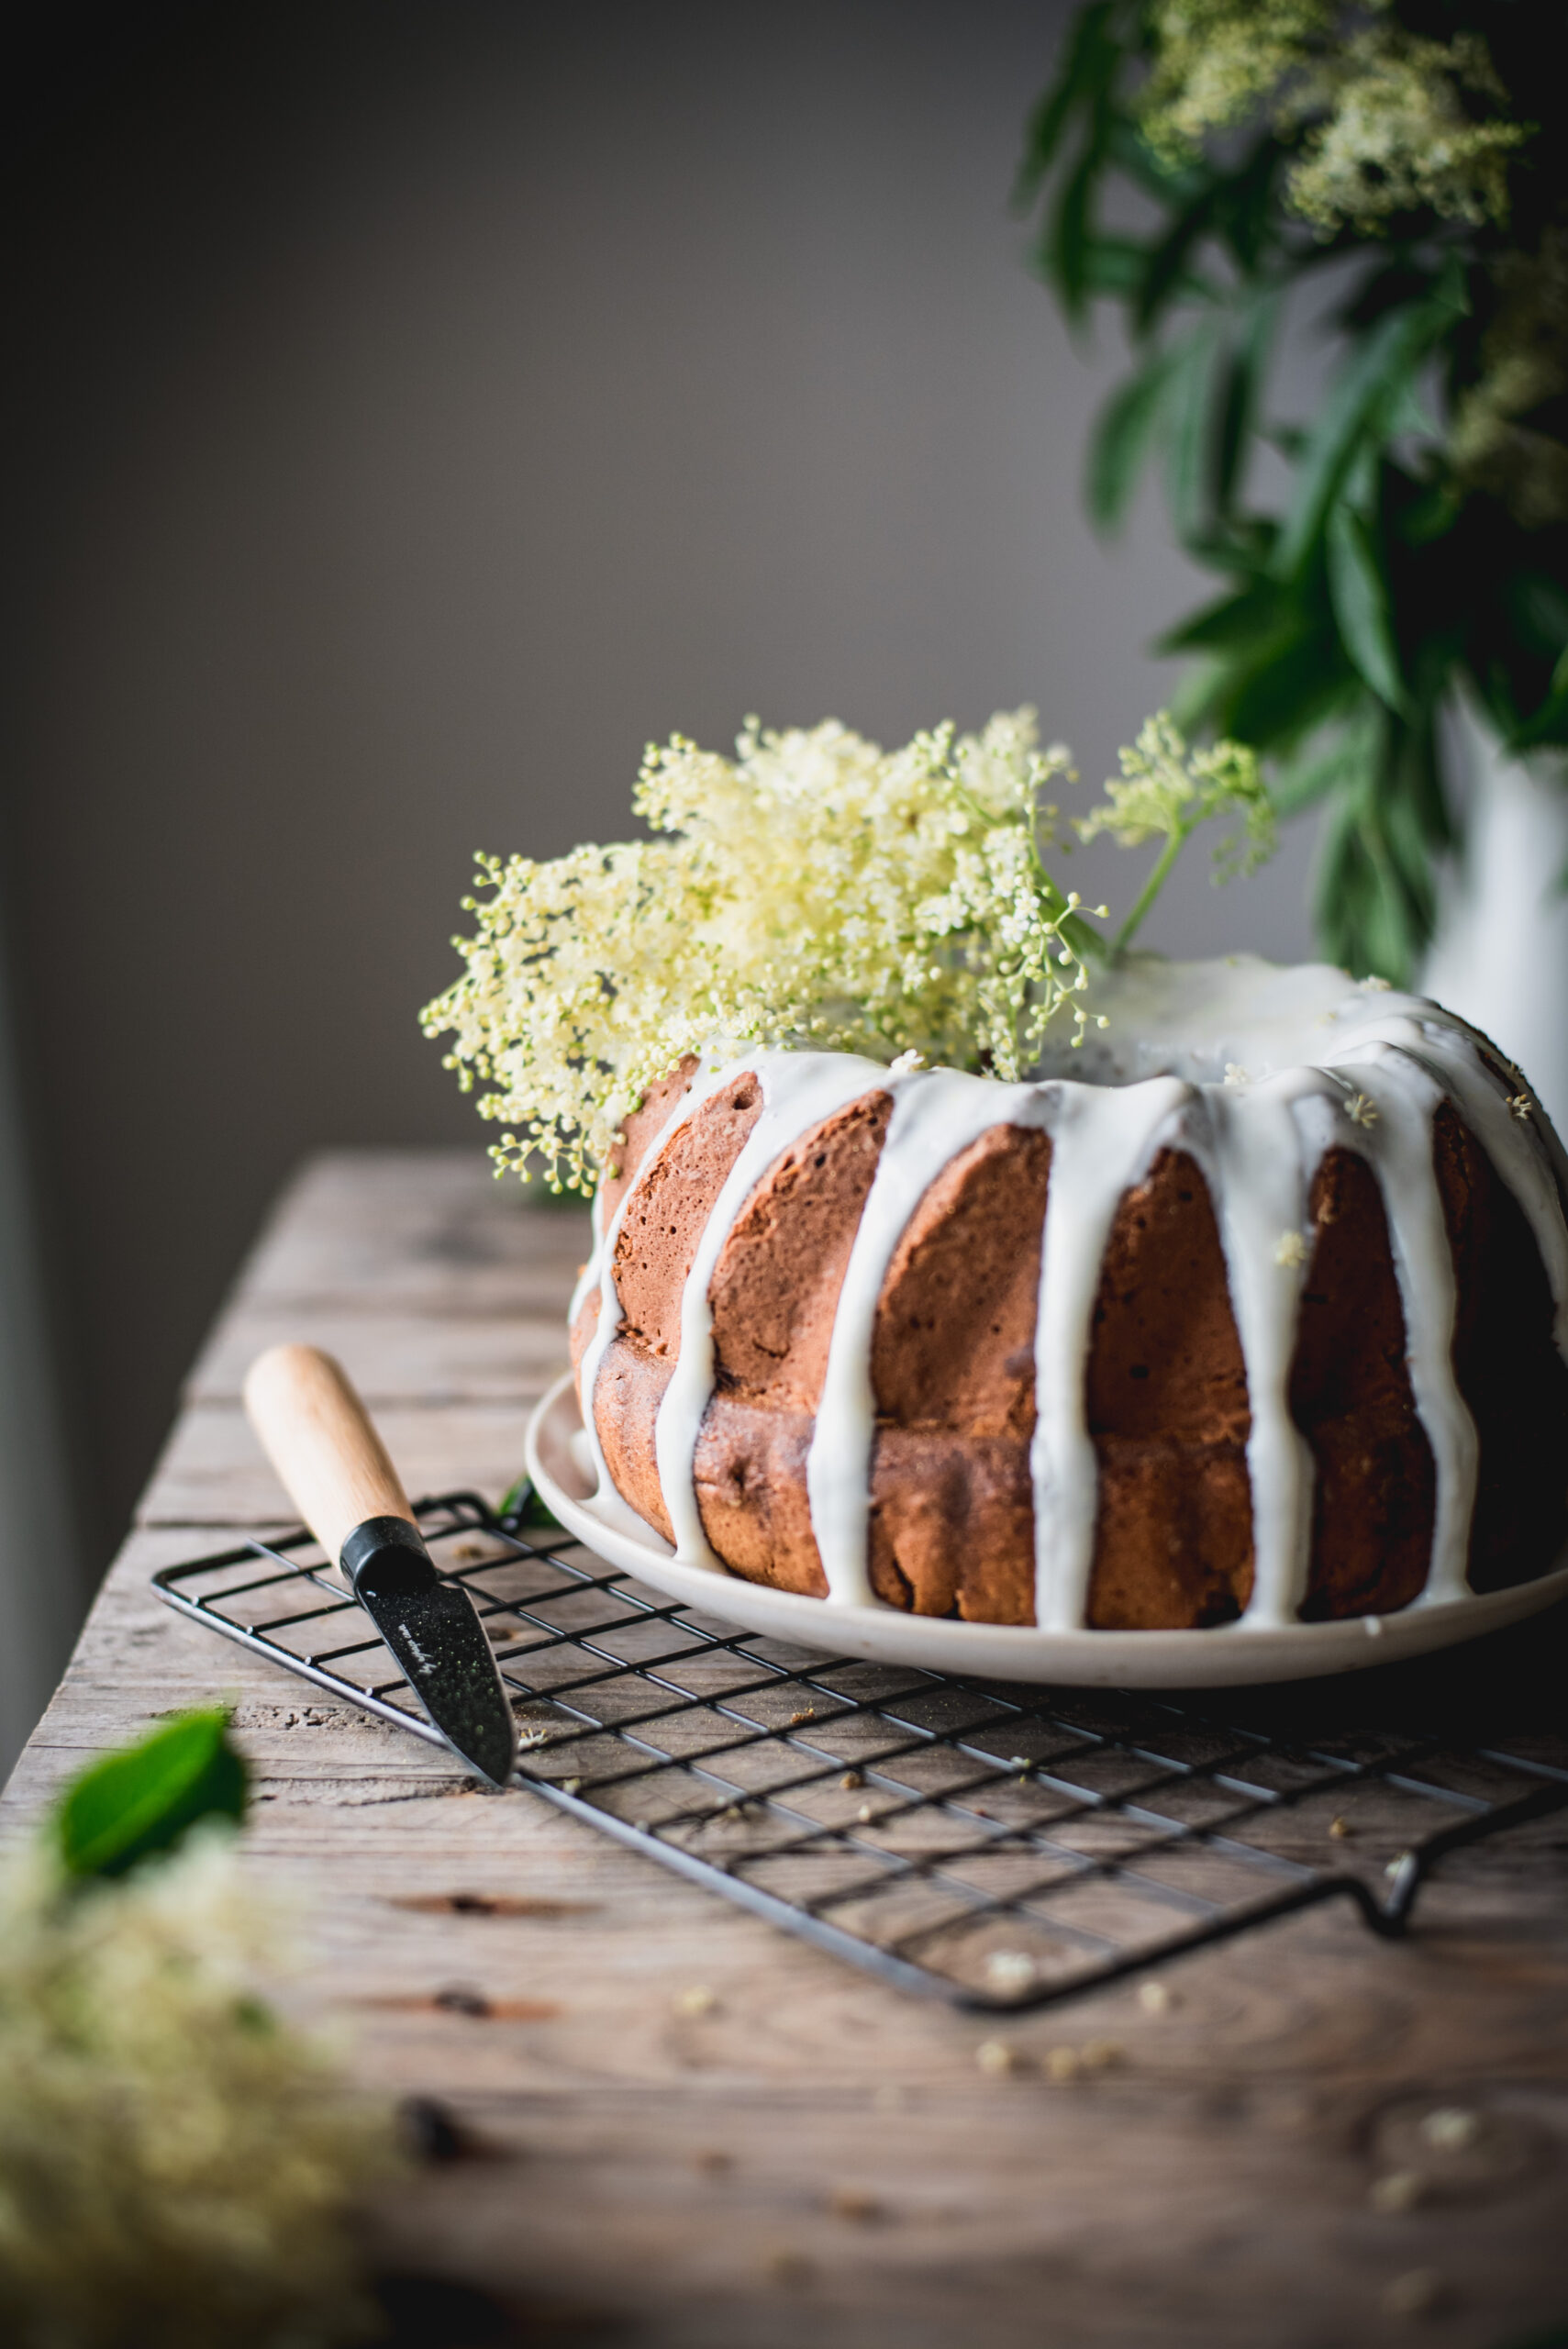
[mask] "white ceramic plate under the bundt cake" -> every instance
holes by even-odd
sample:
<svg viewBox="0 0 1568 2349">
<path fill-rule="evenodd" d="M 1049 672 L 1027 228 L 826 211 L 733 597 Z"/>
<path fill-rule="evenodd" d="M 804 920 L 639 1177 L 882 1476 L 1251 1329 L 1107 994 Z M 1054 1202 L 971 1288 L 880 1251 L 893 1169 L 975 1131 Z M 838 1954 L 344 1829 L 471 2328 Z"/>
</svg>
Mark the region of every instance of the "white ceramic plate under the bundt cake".
<svg viewBox="0 0 1568 2349">
<path fill-rule="evenodd" d="M 577 1438 L 577 1445 L 573 1442 Z M 1221 1689 L 1261 1680 L 1314 1680 L 1371 1663 L 1427 1656 L 1474 1640 L 1568 1597 L 1568 1564 L 1516 1590 L 1444 1607 L 1408 1607 L 1352 1623 L 1293 1623 L 1289 1630 L 1035 1630 L 1026 1623 L 955 1623 L 897 1607 L 833 1607 L 793 1590 L 768 1590 L 735 1574 L 683 1567 L 624 1501 L 599 1508 L 580 1459 L 582 1414 L 570 1377 L 556 1379 L 528 1421 L 526 1461 L 540 1496 L 589 1550 L 664 1597 L 772 1633 L 829 1656 L 871 1656 L 927 1672 L 981 1680 L 1052 1680 L 1094 1689 Z"/>
</svg>

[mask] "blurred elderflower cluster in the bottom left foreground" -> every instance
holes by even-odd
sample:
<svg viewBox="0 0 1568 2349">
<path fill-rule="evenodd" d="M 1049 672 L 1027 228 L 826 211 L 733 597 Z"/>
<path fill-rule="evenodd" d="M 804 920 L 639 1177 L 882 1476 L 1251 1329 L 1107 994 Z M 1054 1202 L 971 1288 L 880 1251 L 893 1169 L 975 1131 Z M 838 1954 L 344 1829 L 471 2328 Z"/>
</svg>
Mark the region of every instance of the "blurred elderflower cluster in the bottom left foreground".
<svg viewBox="0 0 1568 2349">
<path fill-rule="evenodd" d="M 376 2330 L 345 2199 L 387 2119 L 256 1999 L 277 1921 L 230 1837 L 122 1882 L 0 1877 L 0 2333 L 312 2349 Z"/>
</svg>

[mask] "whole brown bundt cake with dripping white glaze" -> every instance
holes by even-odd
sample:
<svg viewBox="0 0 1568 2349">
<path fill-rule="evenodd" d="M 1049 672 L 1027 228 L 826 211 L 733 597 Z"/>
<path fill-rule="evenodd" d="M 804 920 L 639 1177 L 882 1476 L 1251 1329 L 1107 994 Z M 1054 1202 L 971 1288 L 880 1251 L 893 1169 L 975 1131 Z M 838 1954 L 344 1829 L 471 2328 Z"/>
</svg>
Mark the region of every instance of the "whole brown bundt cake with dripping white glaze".
<svg viewBox="0 0 1568 2349">
<path fill-rule="evenodd" d="M 1542 1574 L 1568 1163 L 1519 1071 L 1324 965 L 1138 956 L 1096 1008 L 1021 1085 L 716 1050 L 655 1088 L 573 1304 L 601 1496 L 688 1562 L 1047 1630 Z"/>
</svg>

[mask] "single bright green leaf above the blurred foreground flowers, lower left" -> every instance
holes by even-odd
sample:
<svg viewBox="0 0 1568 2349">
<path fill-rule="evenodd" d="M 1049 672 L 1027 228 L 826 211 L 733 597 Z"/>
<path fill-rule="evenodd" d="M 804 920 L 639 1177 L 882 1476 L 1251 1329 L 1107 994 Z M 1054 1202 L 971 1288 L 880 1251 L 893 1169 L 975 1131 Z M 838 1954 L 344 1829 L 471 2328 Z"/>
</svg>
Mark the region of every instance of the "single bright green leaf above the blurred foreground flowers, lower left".
<svg viewBox="0 0 1568 2349">
<path fill-rule="evenodd" d="M 66 1870 L 120 1877 L 178 1844 L 197 1818 L 244 1818 L 244 1788 L 228 1710 L 183 1712 L 66 1788 L 54 1813 Z"/>
</svg>

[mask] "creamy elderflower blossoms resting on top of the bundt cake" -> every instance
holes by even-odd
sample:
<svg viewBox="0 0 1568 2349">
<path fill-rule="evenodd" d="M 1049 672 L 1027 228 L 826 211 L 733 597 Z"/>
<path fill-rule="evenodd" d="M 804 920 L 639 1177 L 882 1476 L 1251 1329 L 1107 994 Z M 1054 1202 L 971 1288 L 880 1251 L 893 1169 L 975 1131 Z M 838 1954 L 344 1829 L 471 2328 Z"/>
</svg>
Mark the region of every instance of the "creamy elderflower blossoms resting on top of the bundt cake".
<svg viewBox="0 0 1568 2349">
<path fill-rule="evenodd" d="M 1077 832 L 1167 846 L 1117 951 L 1197 822 L 1239 808 L 1261 848 L 1268 817 L 1251 754 L 1188 752 L 1169 719 L 1122 768 Z M 1082 1036 L 1089 963 L 1108 951 L 1106 907 L 1089 914 L 1045 864 L 1059 775 L 1077 780 L 1061 745 L 1040 749 L 1033 709 L 894 752 L 836 721 L 749 719 L 735 759 L 676 735 L 636 780 L 653 839 L 479 857 L 488 895 L 462 902 L 477 935 L 453 940 L 467 968 L 425 1034 L 453 1034 L 446 1066 L 507 1123 L 498 1165 L 528 1174 L 538 1153 L 552 1189 L 580 1191 L 688 1055 L 913 1052 L 1019 1078 L 1052 1019 Z"/>
</svg>

